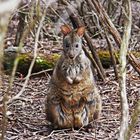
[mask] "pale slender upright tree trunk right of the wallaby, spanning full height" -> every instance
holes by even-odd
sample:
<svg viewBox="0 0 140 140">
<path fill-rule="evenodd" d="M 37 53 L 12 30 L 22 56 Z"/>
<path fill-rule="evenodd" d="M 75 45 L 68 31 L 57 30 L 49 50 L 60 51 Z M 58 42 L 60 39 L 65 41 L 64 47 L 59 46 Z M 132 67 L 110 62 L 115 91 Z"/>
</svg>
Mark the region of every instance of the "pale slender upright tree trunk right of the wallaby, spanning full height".
<svg viewBox="0 0 140 140">
<path fill-rule="evenodd" d="M 123 0 L 125 10 L 124 35 L 120 48 L 120 97 L 121 97 L 121 125 L 118 140 L 126 140 L 129 121 L 129 106 L 126 93 L 126 55 L 131 36 L 132 13 L 130 0 Z"/>
</svg>

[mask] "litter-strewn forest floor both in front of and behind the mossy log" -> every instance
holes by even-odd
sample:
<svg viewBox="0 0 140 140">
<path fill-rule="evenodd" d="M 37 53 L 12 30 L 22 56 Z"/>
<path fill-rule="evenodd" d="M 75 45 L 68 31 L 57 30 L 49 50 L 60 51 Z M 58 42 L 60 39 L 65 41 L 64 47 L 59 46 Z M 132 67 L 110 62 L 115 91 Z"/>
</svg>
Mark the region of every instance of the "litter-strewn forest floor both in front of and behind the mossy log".
<svg viewBox="0 0 140 140">
<path fill-rule="evenodd" d="M 133 22 L 137 23 L 140 29 L 140 6 L 132 5 Z M 135 22 L 136 21 L 136 22 Z M 45 26 L 45 25 L 44 25 Z M 135 26 L 135 25 L 133 25 Z M 53 28 L 56 28 L 53 26 Z M 45 31 L 52 30 L 50 26 L 45 26 Z M 6 47 L 14 44 L 15 33 L 17 31 L 17 19 L 12 19 L 9 24 L 6 37 Z M 139 49 L 138 30 L 133 27 L 132 41 L 137 42 Z M 42 38 L 41 38 L 42 39 Z M 45 55 L 59 53 L 62 48 L 62 38 L 45 38 L 40 41 L 39 51 Z M 57 39 L 60 42 L 57 42 Z M 100 46 L 105 46 L 101 39 L 94 39 Z M 25 47 L 33 49 L 34 37 L 28 37 Z M 42 47 L 43 46 L 43 47 Z M 53 46 L 53 47 L 52 47 Z M 43 48 L 43 49 L 42 49 Z M 127 66 L 127 97 L 129 103 L 130 116 L 134 111 L 135 105 L 140 99 L 140 77 L 128 64 Z M 121 105 L 119 84 L 115 80 L 113 68 L 105 70 L 107 74 L 106 82 L 96 81 L 97 87 L 102 97 L 102 115 L 98 122 L 91 122 L 88 126 L 79 130 L 53 130 L 46 120 L 45 97 L 50 75 L 47 72 L 31 76 L 25 91 L 18 100 L 8 105 L 8 126 L 6 131 L 6 140 L 116 140 L 120 129 Z M 2 97 L 9 85 L 9 75 L 3 76 L 3 87 L 0 89 L 0 128 L 2 126 Z M 25 79 L 19 75 L 14 80 L 11 96 L 15 96 L 22 89 Z M 131 122 L 131 118 L 129 118 Z M 0 129 L 1 132 L 1 129 Z M 131 140 L 140 140 L 140 118 L 133 130 Z"/>
</svg>

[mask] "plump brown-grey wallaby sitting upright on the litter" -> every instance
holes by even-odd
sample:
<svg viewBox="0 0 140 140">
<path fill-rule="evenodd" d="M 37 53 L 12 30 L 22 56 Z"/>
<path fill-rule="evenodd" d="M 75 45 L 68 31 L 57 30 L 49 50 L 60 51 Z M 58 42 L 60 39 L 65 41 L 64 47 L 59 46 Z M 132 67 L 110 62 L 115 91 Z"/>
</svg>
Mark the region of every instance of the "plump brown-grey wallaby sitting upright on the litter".
<svg viewBox="0 0 140 140">
<path fill-rule="evenodd" d="M 82 49 L 85 28 L 63 25 L 61 32 L 63 53 L 49 81 L 46 114 L 55 128 L 80 128 L 99 118 L 101 97 Z"/>
</svg>

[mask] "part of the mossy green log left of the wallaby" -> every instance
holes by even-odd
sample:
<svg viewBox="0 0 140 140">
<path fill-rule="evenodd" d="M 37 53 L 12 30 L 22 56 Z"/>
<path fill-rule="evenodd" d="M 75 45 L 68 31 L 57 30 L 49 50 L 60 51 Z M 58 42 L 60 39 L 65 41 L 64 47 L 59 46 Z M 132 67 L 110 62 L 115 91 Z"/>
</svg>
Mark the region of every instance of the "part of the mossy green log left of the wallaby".
<svg viewBox="0 0 140 140">
<path fill-rule="evenodd" d="M 60 57 L 60 55 L 58 55 L 58 54 L 51 54 L 51 55 L 47 55 L 47 56 L 39 54 L 36 58 L 34 67 L 32 69 L 32 73 L 36 73 L 36 72 L 46 70 L 46 69 L 53 69 L 53 67 L 59 57 Z M 11 73 L 15 58 L 16 58 L 15 55 L 5 55 L 4 70 L 6 73 L 8 73 L 8 74 Z M 28 73 L 28 69 L 29 69 L 31 61 L 33 59 L 32 54 L 30 54 L 30 53 L 20 54 L 17 57 L 17 59 L 19 59 L 17 73 L 26 75 Z"/>
</svg>

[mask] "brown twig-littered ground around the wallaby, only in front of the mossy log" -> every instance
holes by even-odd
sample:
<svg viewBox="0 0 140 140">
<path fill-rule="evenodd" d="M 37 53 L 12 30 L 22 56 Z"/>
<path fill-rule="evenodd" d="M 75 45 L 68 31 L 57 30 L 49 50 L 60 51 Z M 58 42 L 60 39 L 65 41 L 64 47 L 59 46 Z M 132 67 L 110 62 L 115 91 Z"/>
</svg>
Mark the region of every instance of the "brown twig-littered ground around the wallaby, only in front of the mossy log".
<svg viewBox="0 0 140 140">
<path fill-rule="evenodd" d="M 119 85 L 114 79 L 113 70 L 106 70 L 108 80 L 106 83 L 97 82 L 102 97 L 102 115 L 98 122 L 92 122 L 79 130 L 53 130 L 46 121 L 45 97 L 49 76 L 31 77 L 29 83 L 19 100 L 9 104 L 8 127 L 6 140 L 115 140 L 120 127 L 120 96 Z M 2 91 L 8 87 L 8 76 L 4 76 Z M 16 95 L 22 88 L 24 80 L 16 78 L 11 95 Z M 130 115 L 134 110 L 137 99 L 140 98 L 140 80 L 132 69 L 127 73 L 127 96 Z M 2 97 L 2 93 L 0 93 Z M 0 120 L 2 114 L 0 114 Z M 130 120 L 131 121 L 131 120 Z M 131 140 L 140 139 L 140 119 L 133 130 Z"/>
</svg>

